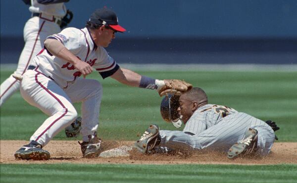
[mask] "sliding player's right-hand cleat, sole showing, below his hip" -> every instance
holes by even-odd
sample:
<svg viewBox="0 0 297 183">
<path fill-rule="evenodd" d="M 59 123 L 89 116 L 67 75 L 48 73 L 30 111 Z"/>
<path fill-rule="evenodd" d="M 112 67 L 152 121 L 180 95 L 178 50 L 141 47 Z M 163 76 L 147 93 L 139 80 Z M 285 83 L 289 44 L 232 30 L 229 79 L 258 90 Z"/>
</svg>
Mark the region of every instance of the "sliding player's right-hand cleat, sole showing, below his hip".
<svg viewBox="0 0 297 183">
<path fill-rule="evenodd" d="M 258 131 L 255 129 L 248 129 L 245 134 L 245 138 L 231 146 L 229 152 L 227 153 L 227 157 L 232 159 L 239 155 L 247 155 L 252 153 L 257 148 L 257 139 Z"/>
</svg>

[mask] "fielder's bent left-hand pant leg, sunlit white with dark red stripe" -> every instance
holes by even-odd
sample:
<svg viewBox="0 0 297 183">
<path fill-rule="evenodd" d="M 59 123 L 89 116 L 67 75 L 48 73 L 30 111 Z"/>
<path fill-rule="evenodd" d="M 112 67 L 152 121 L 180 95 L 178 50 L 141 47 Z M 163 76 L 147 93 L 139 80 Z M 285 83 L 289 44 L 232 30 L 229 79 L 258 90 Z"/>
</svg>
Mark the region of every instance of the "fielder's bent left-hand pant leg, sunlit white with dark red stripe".
<svg viewBox="0 0 297 183">
<path fill-rule="evenodd" d="M 30 138 L 45 146 L 75 120 L 77 112 L 70 98 L 53 80 L 33 70 L 28 70 L 23 76 L 20 86 L 23 98 L 49 115 Z"/>
</svg>

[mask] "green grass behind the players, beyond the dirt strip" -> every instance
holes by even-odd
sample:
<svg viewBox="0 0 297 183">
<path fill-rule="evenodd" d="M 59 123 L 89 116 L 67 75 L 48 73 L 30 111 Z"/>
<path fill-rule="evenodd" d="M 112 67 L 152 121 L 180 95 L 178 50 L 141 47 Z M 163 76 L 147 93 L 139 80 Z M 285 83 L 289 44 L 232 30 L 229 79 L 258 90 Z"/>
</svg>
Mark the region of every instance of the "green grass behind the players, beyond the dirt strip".
<svg viewBox="0 0 297 183">
<path fill-rule="evenodd" d="M 1 69 L 3 82 L 12 70 Z M 201 87 L 209 103 L 223 104 L 262 120 L 274 120 L 280 126 L 279 141 L 297 141 L 297 72 L 139 72 L 158 79 L 184 79 Z M 88 78 L 103 85 L 99 136 L 103 139 L 135 140 L 147 126 L 156 123 L 161 129 L 175 128 L 163 122 L 156 91 L 124 86 L 111 78 L 102 80 L 97 73 Z M 80 104 L 75 104 L 80 113 Z M 28 140 L 47 118 L 38 108 L 30 106 L 16 92 L 0 108 L 0 139 Z M 66 139 L 64 132 L 54 139 Z M 78 137 L 77 139 L 80 139 Z"/>
</svg>

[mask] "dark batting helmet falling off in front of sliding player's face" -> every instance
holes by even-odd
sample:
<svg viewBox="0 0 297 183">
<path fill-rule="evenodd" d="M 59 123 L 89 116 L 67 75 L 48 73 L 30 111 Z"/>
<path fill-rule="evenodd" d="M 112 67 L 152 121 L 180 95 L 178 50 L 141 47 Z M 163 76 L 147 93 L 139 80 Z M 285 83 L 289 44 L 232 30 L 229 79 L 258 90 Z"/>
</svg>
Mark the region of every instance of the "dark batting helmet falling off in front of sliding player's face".
<svg viewBox="0 0 297 183">
<path fill-rule="evenodd" d="M 179 119 L 177 108 L 179 107 L 179 95 L 167 94 L 163 97 L 160 106 L 161 116 L 166 122 L 172 122 Z"/>
</svg>

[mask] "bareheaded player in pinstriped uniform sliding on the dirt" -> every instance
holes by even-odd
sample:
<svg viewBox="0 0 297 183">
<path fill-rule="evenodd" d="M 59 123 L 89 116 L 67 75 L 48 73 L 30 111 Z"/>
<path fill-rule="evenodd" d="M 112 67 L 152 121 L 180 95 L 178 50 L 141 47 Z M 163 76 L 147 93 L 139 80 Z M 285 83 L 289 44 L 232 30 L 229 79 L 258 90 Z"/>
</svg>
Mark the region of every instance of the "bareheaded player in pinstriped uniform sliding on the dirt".
<svg viewBox="0 0 297 183">
<path fill-rule="evenodd" d="M 274 143 L 274 130 L 264 121 L 227 106 L 208 104 L 200 88 L 183 93 L 177 111 L 185 124 L 183 131 L 159 131 L 157 125 L 150 125 L 135 146 L 144 153 L 207 148 L 228 152 L 231 159 L 254 152 L 267 155 Z"/>
</svg>

